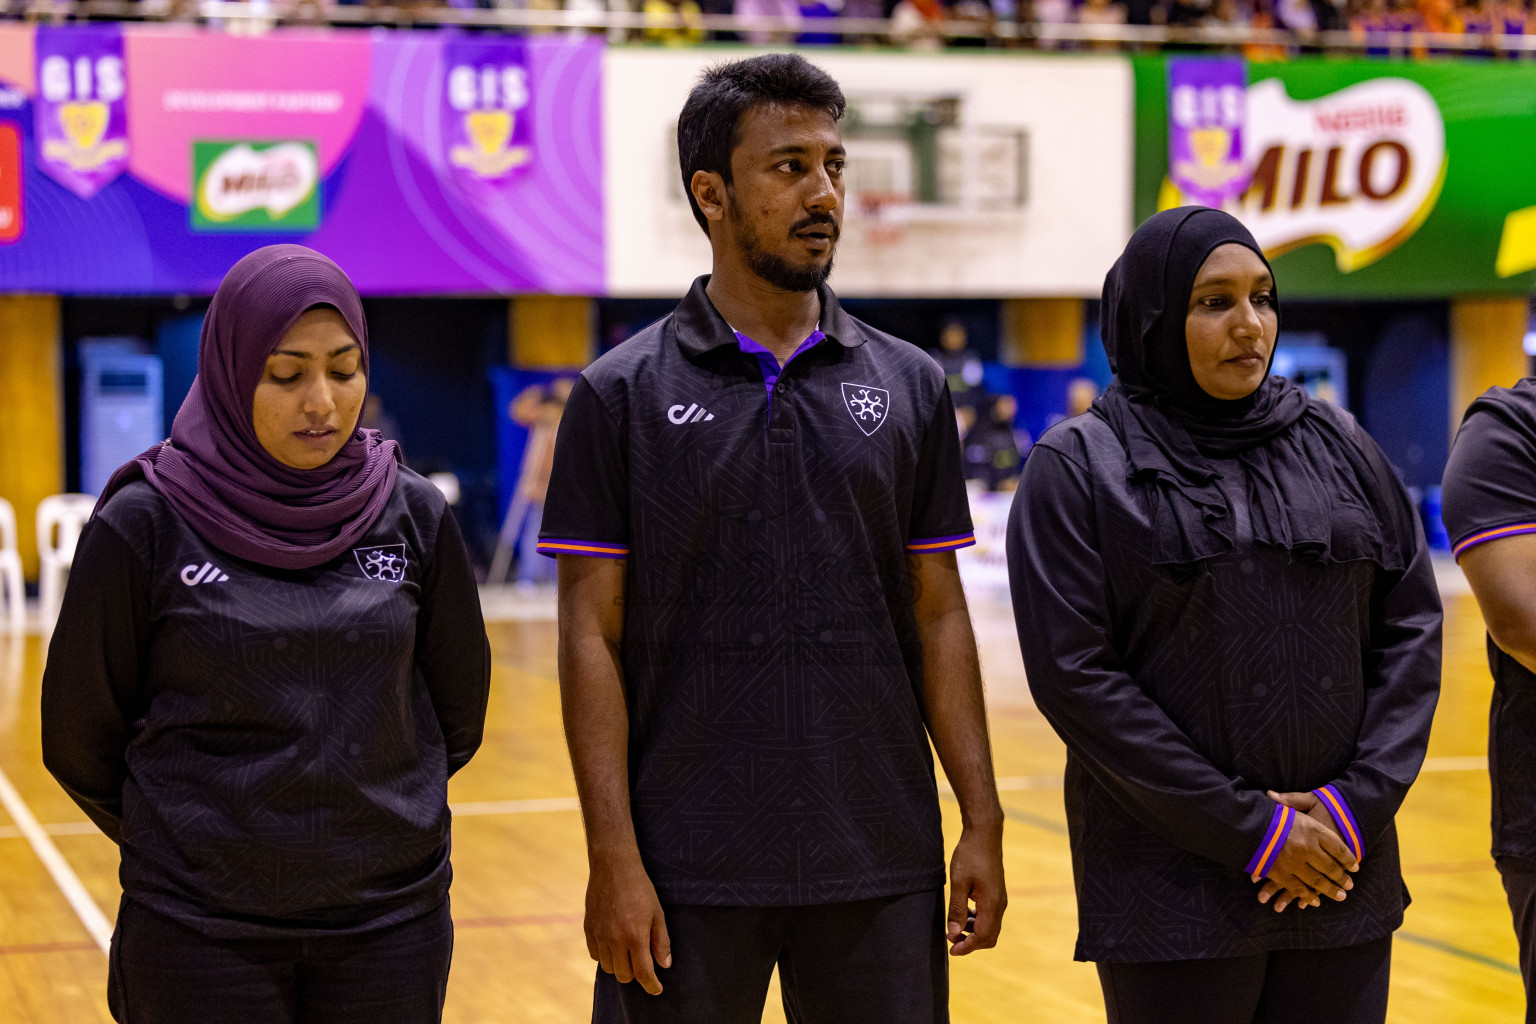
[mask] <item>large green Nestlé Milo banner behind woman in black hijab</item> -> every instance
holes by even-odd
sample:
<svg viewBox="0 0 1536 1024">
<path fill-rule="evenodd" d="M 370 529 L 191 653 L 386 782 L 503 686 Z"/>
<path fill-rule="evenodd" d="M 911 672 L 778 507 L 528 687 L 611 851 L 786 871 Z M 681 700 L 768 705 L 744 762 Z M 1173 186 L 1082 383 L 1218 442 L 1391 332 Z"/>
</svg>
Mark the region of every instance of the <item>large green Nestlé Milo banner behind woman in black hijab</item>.
<svg viewBox="0 0 1536 1024">
<path fill-rule="evenodd" d="M 1169 66 L 1181 60 L 1201 58 L 1134 58 L 1137 223 L 1187 201 L 1169 177 Z M 1286 295 L 1522 295 L 1536 284 L 1536 68 L 1249 63 L 1244 98 L 1246 184 L 1226 209 Z M 1198 103 L 1180 95 L 1181 107 Z"/>
</svg>

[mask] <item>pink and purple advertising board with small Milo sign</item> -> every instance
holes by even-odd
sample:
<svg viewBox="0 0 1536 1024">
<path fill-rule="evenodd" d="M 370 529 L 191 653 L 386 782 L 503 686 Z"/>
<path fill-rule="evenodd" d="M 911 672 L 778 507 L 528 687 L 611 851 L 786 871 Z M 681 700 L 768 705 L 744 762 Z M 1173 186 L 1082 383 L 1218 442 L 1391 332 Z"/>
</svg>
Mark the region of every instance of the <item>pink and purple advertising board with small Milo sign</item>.
<svg viewBox="0 0 1536 1024">
<path fill-rule="evenodd" d="M 0 290 L 207 293 L 296 241 L 372 295 L 601 295 L 601 78 L 554 35 L 0 25 Z"/>
</svg>

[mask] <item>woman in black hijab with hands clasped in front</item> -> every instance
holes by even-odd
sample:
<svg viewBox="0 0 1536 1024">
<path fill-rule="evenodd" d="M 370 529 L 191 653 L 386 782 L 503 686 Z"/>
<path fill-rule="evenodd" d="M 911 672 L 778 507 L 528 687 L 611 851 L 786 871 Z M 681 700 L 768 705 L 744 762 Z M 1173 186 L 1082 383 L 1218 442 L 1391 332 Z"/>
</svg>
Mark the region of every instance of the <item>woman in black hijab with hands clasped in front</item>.
<svg viewBox="0 0 1536 1024">
<path fill-rule="evenodd" d="M 1342 410 L 1269 376 L 1275 281 L 1220 210 L 1104 279 L 1115 379 L 1025 464 L 1029 686 L 1068 746 L 1077 958 L 1111 1024 L 1379 1024 L 1393 815 L 1439 692 L 1418 517 Z"/>
</svg>

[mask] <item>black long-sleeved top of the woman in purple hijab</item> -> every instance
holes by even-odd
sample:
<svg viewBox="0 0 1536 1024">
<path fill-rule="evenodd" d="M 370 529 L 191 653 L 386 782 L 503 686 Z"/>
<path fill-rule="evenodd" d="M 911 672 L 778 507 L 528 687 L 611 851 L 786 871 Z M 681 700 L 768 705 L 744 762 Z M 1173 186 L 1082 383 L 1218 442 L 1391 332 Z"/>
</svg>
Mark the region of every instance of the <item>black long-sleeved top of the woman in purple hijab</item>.
<svg viewBox="0 0 1536 1024">
<path fill-rule="evenodd" d="M 462 539 L 415 473 L 309 570 L 210 548 L 140 481 L 81 534 L 43 754 L 146 907 L 229 938 L 384 927 L 447 894 L 488 679 Z"/>
</svg>

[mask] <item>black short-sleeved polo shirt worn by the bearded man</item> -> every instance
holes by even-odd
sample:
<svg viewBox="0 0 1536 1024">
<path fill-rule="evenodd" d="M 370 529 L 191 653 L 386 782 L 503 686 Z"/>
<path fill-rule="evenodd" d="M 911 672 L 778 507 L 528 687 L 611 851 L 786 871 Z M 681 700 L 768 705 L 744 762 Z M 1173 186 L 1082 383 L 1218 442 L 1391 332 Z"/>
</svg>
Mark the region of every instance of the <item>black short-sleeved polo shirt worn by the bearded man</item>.
<svg viewBox="0 0 1536 1024">
<path fill-rule="evenodd" d="M 825 287 L 774 373 L 707 282 L 582 373 L 539 534 L 628 559 L 641 855 L 671 903 L 938 887 L 906 556 L 972 542 L 943 373 Z"/>
</svg>

